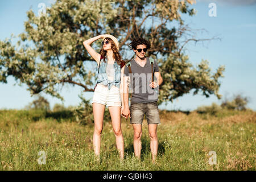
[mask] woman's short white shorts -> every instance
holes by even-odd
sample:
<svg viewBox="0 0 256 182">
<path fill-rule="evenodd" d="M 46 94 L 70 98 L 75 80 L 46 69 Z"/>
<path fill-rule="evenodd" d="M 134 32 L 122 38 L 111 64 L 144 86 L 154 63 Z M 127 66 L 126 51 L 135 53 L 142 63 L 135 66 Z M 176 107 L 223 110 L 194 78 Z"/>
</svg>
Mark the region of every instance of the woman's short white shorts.
<svg viewBox="0 0 256 182">
<path fill-rule="evenodd" d="M 98 84 L 93 93 L 93 103 L 103 104 L 106 106 L 122 106 L 120 90 L 117 86 L 108 86 Z"/>
</svg>

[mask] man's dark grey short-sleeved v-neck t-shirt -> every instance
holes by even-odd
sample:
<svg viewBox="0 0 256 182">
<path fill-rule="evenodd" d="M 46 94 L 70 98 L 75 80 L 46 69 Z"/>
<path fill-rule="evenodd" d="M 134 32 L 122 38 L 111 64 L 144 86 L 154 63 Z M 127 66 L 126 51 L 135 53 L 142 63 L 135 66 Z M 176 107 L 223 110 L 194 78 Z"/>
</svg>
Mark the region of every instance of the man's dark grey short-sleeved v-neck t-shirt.
<svg viewBox="0 0 256 182">
<path fill-rule="evenodd" d="M 150 81 L 152 80 L 150 59 L 147 57 L 146 64 L 141 67 L 134 59 L 131 60 L 131 74 L 129 68 L 125 65 L 123 76 L 130 76 L 129 92 L 133 93 L 131 102 L 155 102 L 158 101 L 158 87 L 152 89 Z M 154 60 L 153 73 L 159 72 L 158 63 Z M 154 76 L 156 82 L 156 77 Z"/>
</svg>

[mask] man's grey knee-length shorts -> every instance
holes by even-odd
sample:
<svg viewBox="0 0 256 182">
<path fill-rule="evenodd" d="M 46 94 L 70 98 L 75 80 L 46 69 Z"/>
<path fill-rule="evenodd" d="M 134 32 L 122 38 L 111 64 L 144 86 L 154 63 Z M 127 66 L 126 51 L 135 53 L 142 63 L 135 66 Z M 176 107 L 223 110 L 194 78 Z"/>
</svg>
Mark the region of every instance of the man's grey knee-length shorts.
<svg viewBox="0 0 256 182">
<path fill-rule="evenodd" d="M 132 102 L 130 106 L 131 124 L 142 124 L 146 114 L 147 124 L 160 124 L 158 102 Z"/>
</svg>

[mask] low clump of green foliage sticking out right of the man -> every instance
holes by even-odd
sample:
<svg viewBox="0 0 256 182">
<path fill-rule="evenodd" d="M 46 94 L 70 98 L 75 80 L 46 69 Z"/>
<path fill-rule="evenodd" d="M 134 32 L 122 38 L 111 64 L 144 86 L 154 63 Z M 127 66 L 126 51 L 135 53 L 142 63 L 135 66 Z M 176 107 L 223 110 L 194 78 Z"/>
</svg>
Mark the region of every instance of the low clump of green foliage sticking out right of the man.
<svg viewBox="0 0 256 182">
<path fill-rule="evenodd" d="M 215 94 L 218 98 L 220 82 L 218 78 L 224 77 L 222 72 L 224 67 L 217 69 L 216 73 L 211 73 L 209 63 L 206 60 L 194 68 L 188 62 L 188 56 L 181 55 L 180 59 L 174 55 L 170 55 L 166 61 L 159 60 L 162 66 L 161 72 L 165 74 L 163 77 L 163 85 L 159 88 L 159 101 L 172 101 L 183 94 L 189 93 L 195 89 L 193 94 L 199 93 L 201 90 L 204 96 L 209 97 L 210 94 Z"/>
</svg>

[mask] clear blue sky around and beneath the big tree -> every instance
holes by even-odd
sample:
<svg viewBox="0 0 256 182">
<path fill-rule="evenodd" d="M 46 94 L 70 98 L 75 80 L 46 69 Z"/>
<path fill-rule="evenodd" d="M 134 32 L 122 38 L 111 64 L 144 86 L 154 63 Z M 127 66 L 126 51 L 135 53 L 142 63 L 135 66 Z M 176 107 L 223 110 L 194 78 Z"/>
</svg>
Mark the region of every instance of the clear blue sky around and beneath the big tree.
<svg viewBox="0 0 256 182">
<path fill-rule="evenodd" d="M 24 31 L 23 23 L 27 20 L 26 12 L 30 9 L 38 12 L 39 3 L 50 6 L 52 1 L 37 0 L 9 0 L 0 1 L 0 39 L 10 38 L 11 34 L 18 35 Z M 216 17 L 210 17 L 209 3 L 216 4 Z M 254 0 L 238 1 L 196 1 L 191 7 L 197 10 L 195 16 L 182 15 L 186 24 L 196 32 L 196 38 L 212 38 L 218 36 L 221 40 L 211 40 L 204 43 L 189 43 L 185 47 L 189 61 L 197 65 L 202 59 L 208 60 L 210 68 L 215 72 L 220 65 L 225 65 L 224 78 L 221 78 L 219 93 L 223 97 L 231 98 L 234 94 L 250 97 L 249 107 L 256 110 L 256 2 Z M 201 29 L 207 31 L 199 31 Z M 0 83 L 0 109 L 22 109 L 34 97 L 26 90 L 26 85 L 14 85 L 13 77 L 8 78 L 8 84 Z M 64 86 L 61 96 L 64 105 L 78 105 L 78 95 L 82 88 L 79 86 Z M 45 96 L 51 104 L 60 100 Z M 93 93 L 84 94 L 92 98 Z M 159 106 L 160 109 L 194 110 L 200 105 L 210 105 L 212 102 L 221 103 L 216 96 L 206 98 L 201 93 L 193 96 L 187 94 L 173 103 Z"/>
</svg>

